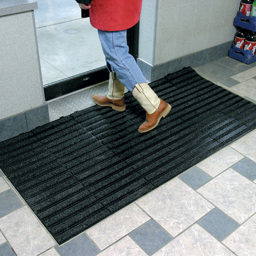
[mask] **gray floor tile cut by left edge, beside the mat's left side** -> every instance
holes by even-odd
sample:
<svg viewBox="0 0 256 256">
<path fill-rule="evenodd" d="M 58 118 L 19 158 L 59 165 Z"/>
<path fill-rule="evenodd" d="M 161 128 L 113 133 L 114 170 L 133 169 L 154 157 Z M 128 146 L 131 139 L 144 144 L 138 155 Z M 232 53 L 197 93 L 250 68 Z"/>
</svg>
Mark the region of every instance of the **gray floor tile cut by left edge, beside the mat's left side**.
<svg viewBox="0 0 256 256">
<path fill-rule="evenodd" d="M 18 197 L 11 189 L 8 189 L 0 194 L 0 217 L 21 206 L 23 206 L 22 202 L 20 202 Z"/>
</svg>

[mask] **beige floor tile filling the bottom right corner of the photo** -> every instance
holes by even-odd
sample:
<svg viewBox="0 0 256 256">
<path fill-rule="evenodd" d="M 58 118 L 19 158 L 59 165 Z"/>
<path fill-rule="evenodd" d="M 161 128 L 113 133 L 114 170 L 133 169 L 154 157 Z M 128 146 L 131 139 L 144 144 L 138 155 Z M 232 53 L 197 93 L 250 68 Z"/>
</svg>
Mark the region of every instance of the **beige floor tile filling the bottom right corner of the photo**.
<svg viewBox="0 0 256 256">
<path fill-rule="evenodd" d="M 256 215 L 227 237 L 223 244 L 239 256 L 256 255 Z"/>
</svg>

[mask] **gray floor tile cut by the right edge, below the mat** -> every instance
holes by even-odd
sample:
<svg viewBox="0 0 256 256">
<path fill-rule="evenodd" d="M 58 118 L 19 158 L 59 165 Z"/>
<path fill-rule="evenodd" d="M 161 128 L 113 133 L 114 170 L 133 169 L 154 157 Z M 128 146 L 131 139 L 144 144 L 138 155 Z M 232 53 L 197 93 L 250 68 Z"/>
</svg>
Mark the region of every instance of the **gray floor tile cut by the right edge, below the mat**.
<svg viewBox="0 0 256 256">
<path fill-rule="evenodd" d="M 244 158 L 232 166 L 236 170 L 251 181 L 256 179 L 256 163 L 248 158 Z"/>
</svg>

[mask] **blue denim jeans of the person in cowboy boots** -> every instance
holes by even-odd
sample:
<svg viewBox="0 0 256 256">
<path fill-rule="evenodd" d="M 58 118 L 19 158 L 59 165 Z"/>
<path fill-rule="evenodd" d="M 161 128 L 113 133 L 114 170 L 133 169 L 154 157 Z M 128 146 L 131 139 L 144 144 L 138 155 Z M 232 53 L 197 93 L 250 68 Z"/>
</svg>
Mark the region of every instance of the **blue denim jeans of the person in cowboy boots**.
<svg viewBox="0 0 256 256">
<path fill-rule="evenodd" d="M 146 82 L 136 60 L 129 53 L 126 30 L 98 30 L 98 34 L 109 71 L 115 71 L 120 82 L 131 92 L 137 83 Z"/>
</svg>

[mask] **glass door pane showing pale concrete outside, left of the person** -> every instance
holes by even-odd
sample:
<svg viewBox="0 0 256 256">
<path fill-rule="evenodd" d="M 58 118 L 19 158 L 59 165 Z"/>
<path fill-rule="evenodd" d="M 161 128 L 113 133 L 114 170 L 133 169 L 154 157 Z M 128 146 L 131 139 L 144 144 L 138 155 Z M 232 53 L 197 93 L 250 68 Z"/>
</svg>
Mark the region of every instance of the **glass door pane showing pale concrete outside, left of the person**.
<svg viewBox="0 0 256 256">
<path fill-rule="evenodd" d="M 105 66 L 97 29 L 75 0 L 37 0 L 35 10 L 44 85 Z"/>
</svg>

